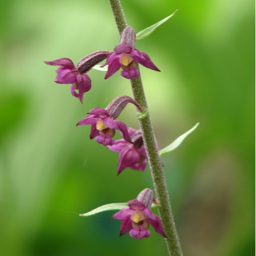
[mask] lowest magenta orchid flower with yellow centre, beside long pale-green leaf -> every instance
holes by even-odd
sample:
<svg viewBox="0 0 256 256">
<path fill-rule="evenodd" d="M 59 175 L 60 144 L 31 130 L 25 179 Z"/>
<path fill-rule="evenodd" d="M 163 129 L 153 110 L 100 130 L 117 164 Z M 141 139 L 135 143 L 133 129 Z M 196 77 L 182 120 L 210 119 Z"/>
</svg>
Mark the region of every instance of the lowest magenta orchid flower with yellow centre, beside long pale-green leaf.
<svg viewBox="0 0 256 256">
<path fill-rule="evenodd" d="M 153 192 L 149 188 L 144 189 L 141 193 L 152 193 L 153 196 Z M 150 231 L 148 229 L 149 225 L 151 225 L 157 233 L 166 238 L 160 218 L 153 214 L 150 209 L 151 203 L 152 200 L 148 203 L 144 202 L 144 200 L 140 201 L 138 199 L 134 199 L 127 202 L 129 207 L 124 208 L 113 215 L 114 219 L 122 220 L 120 236 L 129 232 L 132 238 L 148 238 L 150 236 Z"/>
</svg>

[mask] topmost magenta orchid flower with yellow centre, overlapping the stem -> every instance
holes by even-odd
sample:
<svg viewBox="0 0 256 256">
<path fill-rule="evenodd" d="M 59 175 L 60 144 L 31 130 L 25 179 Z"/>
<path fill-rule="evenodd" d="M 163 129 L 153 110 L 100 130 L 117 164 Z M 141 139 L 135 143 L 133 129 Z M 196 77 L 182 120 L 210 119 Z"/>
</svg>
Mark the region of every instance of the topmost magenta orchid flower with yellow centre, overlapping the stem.
<svg viewBox="0 0 256 256">
<path fill-rule="evenodd" d="M 115 51 L 108 55 L 107 61 L 101 67 L 108 65 L 105 79 L 110 77 L 118 69 L 122 68 L 121 75 L 127 79 L 132 79 L 140 75 L 138 63 L 146 68 L 160 71 L 151 61 L 148 54 L 134 49 L 135 31 L 132 27 L 126 27 L 122 32 L 120 44 L 115 47 Z"/>
</svg>

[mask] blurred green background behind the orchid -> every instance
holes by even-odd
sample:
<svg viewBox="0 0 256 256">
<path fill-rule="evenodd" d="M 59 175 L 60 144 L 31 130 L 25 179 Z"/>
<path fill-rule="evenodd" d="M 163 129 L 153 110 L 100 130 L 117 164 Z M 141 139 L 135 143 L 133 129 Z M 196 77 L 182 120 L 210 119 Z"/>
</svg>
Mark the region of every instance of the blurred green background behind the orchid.
<svg viewBox="0 0 256 256">
<path fill-rule="evenodd" d="M 141 68 L 160 148 L 200 122 L 162 158 L 184 255 L 255 255 L 254 1 L 122 4 L 137 32 L 179 10 L 137 48 L 162 71 Z M 5 0 L 0 12 L 0 255 L 167 255 L 152 229 L 141 241 L 120 238 L 114 212 L 78 216 L 153 188 L 148 168 L 117 177 L 118 154 L 75 126 L 93 107 L 131 96 L 129 80 L 91 70 L 81 105 L 43 63 L 112 51 L 108 1 Z M 133 106 L 120 120 L 138 128 Z"/>
</svg>

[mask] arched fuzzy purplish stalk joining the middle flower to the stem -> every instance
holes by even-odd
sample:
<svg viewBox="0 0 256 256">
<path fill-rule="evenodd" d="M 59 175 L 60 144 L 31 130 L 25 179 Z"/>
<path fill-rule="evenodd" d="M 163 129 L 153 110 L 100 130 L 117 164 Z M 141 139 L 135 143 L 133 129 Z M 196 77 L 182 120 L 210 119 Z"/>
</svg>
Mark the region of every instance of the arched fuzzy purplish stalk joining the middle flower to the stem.
<svg viewBox="0 0 256 256">
<path fill-rule="evenodd" d="M 113 99 L 113 101 L 110 102 L 110 104 L 106 107 L 106 110 L 108 111 L 110 117 L 116 119 L 128 103 L 132 103 L 140 112 L 143 111 L 139 103 L 127 95 L 118 96 L 117 98 Z"/>
</svg>

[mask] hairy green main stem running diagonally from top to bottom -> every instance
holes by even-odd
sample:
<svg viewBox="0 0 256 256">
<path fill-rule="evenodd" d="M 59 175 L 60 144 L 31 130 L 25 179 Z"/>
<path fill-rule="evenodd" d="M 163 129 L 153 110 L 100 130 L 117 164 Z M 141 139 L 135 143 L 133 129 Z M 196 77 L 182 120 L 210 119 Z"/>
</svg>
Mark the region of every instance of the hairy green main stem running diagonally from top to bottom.
<svg viewBox="0 0 256 256">
<path fill-rule="evenodd" d="M 124 12 L 122 11 L 120 0 L 110 0 L 110 5 L 115 17 L 118 31 L 121 34 L 127 24 Z M 132 79 L 131 86 L 135 100 L 140 104 L 141 107 L 147 107 L 141 77 L 139 76 Z M 145 118 L 139 120 L 139 122 L 140 129 L 143 134 L 146 154 L 148 156 L 151 175 L 153 178 L 154 189 L 157 195 L 157 201 L 160 204 L 160 207 L 158 208 L 160 219 L 162 220 L 164 231 L 167 235 L 165 241 L 167 242 L 168 252 L 172 256 L 181 256 L 181 245 L 179 244 L 179 238 L 174 224 L 168 189 L 163 172 L 163 164 L 158 154 L 157 143 L 155 140 L 153 126 L 151 125 L 149 112 L 148 115 Z"/>
</svg>

